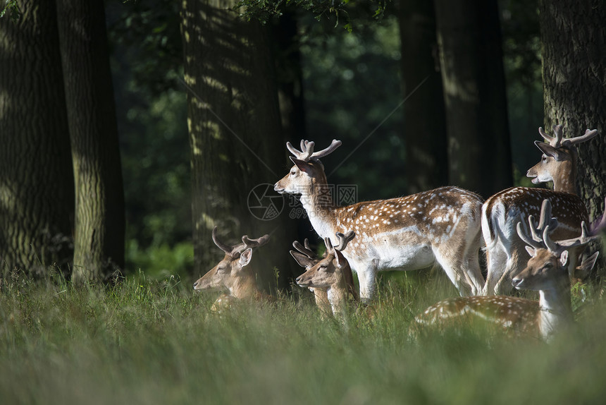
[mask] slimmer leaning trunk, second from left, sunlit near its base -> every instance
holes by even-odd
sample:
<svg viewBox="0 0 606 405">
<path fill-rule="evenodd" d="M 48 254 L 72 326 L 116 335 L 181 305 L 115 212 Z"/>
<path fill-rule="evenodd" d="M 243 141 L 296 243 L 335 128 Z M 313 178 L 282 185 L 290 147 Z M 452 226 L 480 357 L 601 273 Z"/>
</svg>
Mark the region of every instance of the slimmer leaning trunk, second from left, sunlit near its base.
<svg viewBox="0 0 606 405">
<path fill-rule="evenodd" d="M 124 192 L 102 1 L 56 0 L 73 173 L 73 281 L 124 266 Z"/>
</svg>

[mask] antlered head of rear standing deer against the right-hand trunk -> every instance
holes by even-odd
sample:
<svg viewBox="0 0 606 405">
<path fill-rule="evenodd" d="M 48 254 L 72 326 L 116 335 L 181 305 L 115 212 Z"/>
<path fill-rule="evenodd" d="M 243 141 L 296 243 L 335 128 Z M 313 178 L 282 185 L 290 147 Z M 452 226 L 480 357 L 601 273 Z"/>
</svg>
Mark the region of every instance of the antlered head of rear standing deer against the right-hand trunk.
<svg viewBox="0 0 606 405">
<path fill-rule="evenodd" d="M 576 175 L 576 148 L 574 145 L 590 140 L 598 135 L 598 130 L 587 130 L 584 135 L 567 139 L 564 139 L 561 125 L 553 126 L 554 137 L 545 133 L 543 128 L 538 128 L 538 131 L 548 143 L 535 141 L 535 145 L 543 152 L 543 157 L 540 162 L 528 169 L 526 176 L 530 177 L 535 184 L 553 181 L 555 191 L 576 193 L 574 190 L 574 176 Z"/>
</svg>

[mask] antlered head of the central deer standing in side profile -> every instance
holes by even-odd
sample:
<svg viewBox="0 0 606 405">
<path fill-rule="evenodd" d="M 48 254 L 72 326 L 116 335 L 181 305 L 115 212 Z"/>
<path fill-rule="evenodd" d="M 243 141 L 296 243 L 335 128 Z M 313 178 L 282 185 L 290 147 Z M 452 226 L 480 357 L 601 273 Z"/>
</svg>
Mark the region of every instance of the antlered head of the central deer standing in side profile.
<svg viewBox="0 0 606 405">
<path fill-rule="evenodd" d="M 314 143 L 301 140 L 301 150 L 297 150 L 290 142 L 286 147 L 294 157 L 290 157 L 295 165 L 273 187 L 278 193 L 313 195 L 317 189 L 326 185 L 326 174 L 320 158 L 329 155 L 341 145 L 340 140 L 334 140 L 326 149 L 314 152 Z"/>
</svg>

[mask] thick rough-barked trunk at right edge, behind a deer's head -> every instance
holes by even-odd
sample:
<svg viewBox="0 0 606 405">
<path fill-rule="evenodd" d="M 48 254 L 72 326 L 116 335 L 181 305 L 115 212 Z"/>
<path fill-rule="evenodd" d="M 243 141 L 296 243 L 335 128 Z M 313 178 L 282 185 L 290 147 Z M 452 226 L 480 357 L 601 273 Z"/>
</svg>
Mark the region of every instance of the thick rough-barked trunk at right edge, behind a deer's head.
<svg viewBox="0 0 606 405">
<path fill-rule="evenodd" d="M 577 184 L 590 219 L 599 219 L 606 195 L 606 4 L 541 1 L 539 18 L 545 126 L 562 124 L 566 137 L 598 129 L 577 147 Z"/>
</svg>

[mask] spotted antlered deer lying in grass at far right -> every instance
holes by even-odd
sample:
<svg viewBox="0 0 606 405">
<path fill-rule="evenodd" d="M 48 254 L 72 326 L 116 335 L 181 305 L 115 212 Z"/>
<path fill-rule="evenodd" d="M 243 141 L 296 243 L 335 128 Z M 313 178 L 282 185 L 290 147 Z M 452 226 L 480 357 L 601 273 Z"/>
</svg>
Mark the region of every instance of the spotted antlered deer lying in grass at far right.
<svg viewBox="0 0 606 405">
<path fill-rule="evenodd" d="M 517 224 L 520 238 L 527 243 L 530 255 L 528 264 L 512 279 L 516 289 L 539 292 L 539 301 L 513 296 L 474 296 L 450 298 L 427 308 L 415 318 L 419 326 L 457 327 L 480 320 L 495 325 L 517 336 L 540 337 L 549 340 L 564 325 L 573 322 L 570 279 L 568 274 L 568 250 L 584 246 L 599 237 L 606 227 L 606 214 L 600 225 L 589 234 L 586 224 L 581 224 L 581 236 L 554 242 L 550 238 L 552 226 L 557 226 L 551 216 L 549 200 L 543 202 L 538 229 L 533 217 L 528 217 L 531 236 Z M 581 270 L 588 272 L 595 265 L 598 252 L 583 260 Z"/>
</svg>

